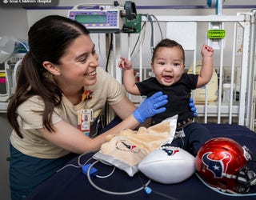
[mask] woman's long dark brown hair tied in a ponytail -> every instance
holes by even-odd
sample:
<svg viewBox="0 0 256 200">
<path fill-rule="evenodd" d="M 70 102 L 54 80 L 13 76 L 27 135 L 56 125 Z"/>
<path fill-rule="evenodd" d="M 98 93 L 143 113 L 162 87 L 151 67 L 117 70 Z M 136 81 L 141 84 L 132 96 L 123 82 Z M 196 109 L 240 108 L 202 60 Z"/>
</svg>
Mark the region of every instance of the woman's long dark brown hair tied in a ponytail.
<svg viewBox="0 0 256 200">
<path fill-rule="evenodd" d="M 18 106 L 34 95 L 40 96 L 45 104 L 42 114 L 43 126 L 51 132 L 54 131 L 51 116 L 54 106 L 58 106 L 62 101 L 62 90 L 47 77 L 48 72 L 42 62 L 60 64 L 60 58 L 66 53 L 67 47 L 82 34 L 89 35 L 85 26 L 58 15 L 46 16 L 30 27 L 30 51 L 22 60 L 17 87 L 7 108 L 8 121 L 19 137 L 23 138 L 18 124 Z"/>
</svg>

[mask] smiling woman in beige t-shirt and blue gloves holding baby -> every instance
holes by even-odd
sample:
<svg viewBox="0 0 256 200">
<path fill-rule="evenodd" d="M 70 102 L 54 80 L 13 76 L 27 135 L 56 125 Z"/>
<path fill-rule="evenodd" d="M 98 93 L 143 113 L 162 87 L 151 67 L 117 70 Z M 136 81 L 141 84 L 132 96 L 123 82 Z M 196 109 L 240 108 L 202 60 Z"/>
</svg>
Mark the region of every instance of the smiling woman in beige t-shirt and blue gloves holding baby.
<svg viewBox="0 0 256 200">
<path fill-rule="evenodd" d="M 98 67 L 94 43 L 78 22 L 47 16 L 30 27 L 28 38 L 30 51 L 23 58 L 7 110 L 14 128 L 10 136 L 12 199 L 25 199 L 74 154 L 98 150 L 107 135 L 136 128 L 164 111 L 167 102 L 166 95 L 157 93 L 135 110 L 122 86 Z M 88 137 L 85 131 L 94 133 L 82 122 L 84 114 L 92 114 L 86 122 L 97 122 L 106 102 L 122 122 Z"/>
</svg>

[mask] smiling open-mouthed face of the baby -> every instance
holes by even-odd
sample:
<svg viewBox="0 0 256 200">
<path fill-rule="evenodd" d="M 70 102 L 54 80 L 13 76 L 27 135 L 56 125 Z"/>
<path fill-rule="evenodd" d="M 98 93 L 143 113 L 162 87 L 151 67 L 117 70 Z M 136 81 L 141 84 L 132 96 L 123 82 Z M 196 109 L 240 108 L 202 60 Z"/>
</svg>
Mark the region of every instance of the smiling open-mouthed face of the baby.
<svg viewBox="0 0 256 200">
<path fill-rule="evenodd" d="M 158 82 L 163 86 L 171 86 L 184 73 L 184 59 L 182 50 L 178 47 L 160 47 L 151 64 L 152 71 Z"/>
</svg>

